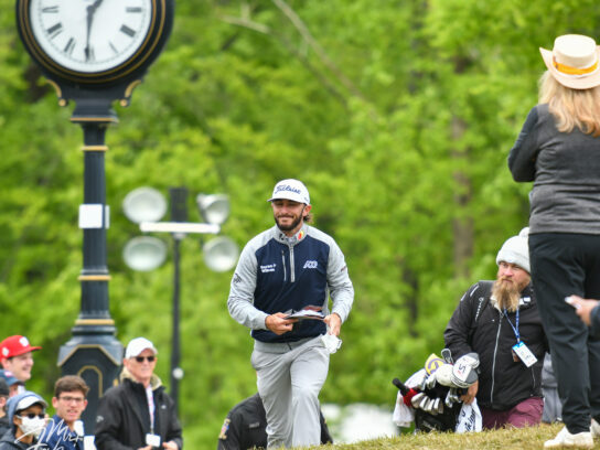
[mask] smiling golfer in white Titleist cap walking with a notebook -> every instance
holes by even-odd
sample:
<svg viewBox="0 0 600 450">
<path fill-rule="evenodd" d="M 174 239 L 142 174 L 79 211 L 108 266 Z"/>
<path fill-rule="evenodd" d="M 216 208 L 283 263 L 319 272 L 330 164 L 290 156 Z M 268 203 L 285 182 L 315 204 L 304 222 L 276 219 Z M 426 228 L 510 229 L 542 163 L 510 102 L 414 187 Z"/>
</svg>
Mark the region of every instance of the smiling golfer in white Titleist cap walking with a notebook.
<svg viewBox="0 0 600 450">
<path fill-rule="evenodd" d="M 267 414 L 268 447 L 313 446 L 321 437 L 319 393 L 354 289 L 338 244 L 307 225 L 312 206 L 304 184 L 280 181 L 269 202 L 276 225 L 242 251 L 227 306 L 255 339 L 251 364 Z M 323 311 L 324 319 L 286 319 L 307 308 Z"/>
</svg>

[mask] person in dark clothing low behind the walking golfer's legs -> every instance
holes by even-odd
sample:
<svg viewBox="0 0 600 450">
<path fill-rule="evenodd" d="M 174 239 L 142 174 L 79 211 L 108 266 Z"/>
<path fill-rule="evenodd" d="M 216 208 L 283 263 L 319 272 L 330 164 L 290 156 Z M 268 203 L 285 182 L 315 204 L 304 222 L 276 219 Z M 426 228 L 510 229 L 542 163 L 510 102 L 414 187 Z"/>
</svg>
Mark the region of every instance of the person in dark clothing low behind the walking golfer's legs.
<svg viewBox="0 0 600 450">
<path fill-rule="evenodd" d="M 323 414 L 320 413 L 321 443 L 333 443 Z M 217 450 L 267 448 L 267 417 L 258 394 L 238 403 L 225 418 Z"/>
</svg>

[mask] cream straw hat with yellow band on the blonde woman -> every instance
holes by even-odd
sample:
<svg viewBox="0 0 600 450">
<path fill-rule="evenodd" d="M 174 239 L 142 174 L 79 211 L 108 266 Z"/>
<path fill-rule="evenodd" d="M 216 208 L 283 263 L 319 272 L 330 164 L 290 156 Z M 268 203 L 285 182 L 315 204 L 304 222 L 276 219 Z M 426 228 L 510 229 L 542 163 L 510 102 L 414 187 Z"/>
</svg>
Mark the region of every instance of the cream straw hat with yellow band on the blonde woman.
<svg viewBox="0 0 600 450">
<path fill-rule="evenodd" d="M 544 63 L 555 79 L 572 89 L 600 85 L 600 46 L 580 34 L 556 38 L 551 51 L 539 47 Z"/>
</svg>

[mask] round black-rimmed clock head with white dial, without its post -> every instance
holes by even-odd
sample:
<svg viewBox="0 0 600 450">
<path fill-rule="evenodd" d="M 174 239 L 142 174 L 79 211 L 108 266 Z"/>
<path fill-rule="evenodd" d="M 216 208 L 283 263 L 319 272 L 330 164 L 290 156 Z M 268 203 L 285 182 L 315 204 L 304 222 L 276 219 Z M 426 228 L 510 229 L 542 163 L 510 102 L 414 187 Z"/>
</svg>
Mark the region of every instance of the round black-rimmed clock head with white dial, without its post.
<svg viewBox="0 0 600 450">
<path fill-rule="evenodd" d="M 17 1 L 25 49 L 61 87 L 103 89 L 141 78 L 172 21 L 172 0 Z"/>
</svg>

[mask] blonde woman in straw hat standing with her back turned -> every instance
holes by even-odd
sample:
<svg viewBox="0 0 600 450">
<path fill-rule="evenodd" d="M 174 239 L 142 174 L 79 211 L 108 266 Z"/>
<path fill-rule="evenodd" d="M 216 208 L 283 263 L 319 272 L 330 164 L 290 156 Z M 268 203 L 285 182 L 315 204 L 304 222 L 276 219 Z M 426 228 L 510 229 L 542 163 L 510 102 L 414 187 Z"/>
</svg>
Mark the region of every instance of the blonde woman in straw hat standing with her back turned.
<svg viewBox="0 0 600 450">
<path fill-rule="evenodd" d="M 534 181 L 532 278 L 564 399 L 566 427 L 544 447 L 592 448 L 600 437 L 600 340 L 564 299 L 600 298 L 600 51 L 591 38 L 568 34 L 540 52 L 548 69 L 539 104 L 508 167 L 515 181 Z"/>
</svg>

